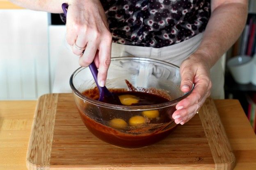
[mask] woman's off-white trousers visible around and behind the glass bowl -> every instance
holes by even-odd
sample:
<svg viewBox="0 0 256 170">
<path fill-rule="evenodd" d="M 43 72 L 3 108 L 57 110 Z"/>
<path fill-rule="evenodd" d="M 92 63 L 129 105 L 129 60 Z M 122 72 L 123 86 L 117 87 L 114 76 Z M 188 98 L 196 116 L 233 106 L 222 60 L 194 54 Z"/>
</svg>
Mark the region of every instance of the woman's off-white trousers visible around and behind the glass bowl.
<svg viewBox="0 0 256 170">
<path fill-rule="evenodd" d="M 162 47 L 162 48 L 153 48 L 153 47 L 139 47 L 132 45 L 121 45 L 117 43 L 112 43 L 112 57 L 124 57 L 124 56 L 136 56 L 136 57 L 147 57 L 147 58 L 155 58 L 158 60 L 164 60 L 169 63 L 173 63 L 175 65 L 180 66 L 181 62 L 189 57 L 198 47 L 201 42 L 203 34 L 198 34 L 189 40 L 185 40 L 175 45 Z M 224 71 L 222 67 L 222 60 L 219 60 L 213 68 L 210 70 L 210 78 L 213 83 L 213 87 L 211 90 L 212 98 L 224 98 Z M 65 65 L 58 63 L 58 65 L 62 65 L 65 68 L 65 72 L 69 72 L 67 70 L 75 71 L 74 68 L 75 62 L 77 60 L 66 61 Z M 72 64 L 73 63 L 73 64 Z M 71 65 L 72 67 L 69 67 Z M 77 67 L 78 68 L 78 67 Z M 53 92 L 71 92 L 69 87 L 69 83 L 66 83 L 67 77 L 69 74 L 64 75 L 63 71 L 56 71 L 55 82 L 53 85 Z M 69 77 L 68 77 L 69 78 Z M 65 82 L 65 84 L 64 84 Z"/>
</svg>

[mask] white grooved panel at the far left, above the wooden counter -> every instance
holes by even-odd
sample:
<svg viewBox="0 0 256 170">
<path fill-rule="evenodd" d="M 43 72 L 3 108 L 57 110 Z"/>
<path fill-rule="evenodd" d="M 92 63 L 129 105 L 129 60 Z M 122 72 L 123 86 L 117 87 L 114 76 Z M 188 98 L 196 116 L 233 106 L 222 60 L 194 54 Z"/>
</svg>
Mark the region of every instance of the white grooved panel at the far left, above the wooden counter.
<svg viewBox="0 0 256 170">
<path fill-rule="evenodd" d="M 0 100 L 50 92 L 48 14 L 0 10 Z"/>
</svg>

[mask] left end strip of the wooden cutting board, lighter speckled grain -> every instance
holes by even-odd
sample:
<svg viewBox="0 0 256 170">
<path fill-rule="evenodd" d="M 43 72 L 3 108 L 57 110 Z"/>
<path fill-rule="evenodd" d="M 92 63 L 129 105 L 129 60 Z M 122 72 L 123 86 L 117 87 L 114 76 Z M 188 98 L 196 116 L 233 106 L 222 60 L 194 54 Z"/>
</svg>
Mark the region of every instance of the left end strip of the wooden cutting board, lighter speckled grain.
<svg viewBox="0 0 256 170">
<path fill-rule="evenodd" d="M 27 148 L 28 170 L 48 170 L 53 143 L 53 130 L 58 94 L 46 94 L 39 98 Z"/>
</svg>

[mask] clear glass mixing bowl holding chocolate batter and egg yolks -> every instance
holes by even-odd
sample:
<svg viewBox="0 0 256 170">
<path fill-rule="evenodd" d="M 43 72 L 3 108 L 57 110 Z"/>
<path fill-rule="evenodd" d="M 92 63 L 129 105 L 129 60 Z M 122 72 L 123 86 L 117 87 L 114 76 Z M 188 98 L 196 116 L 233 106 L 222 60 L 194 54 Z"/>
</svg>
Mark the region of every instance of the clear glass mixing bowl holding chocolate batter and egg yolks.
<svg viewBox="0 0 256 170">
<path fill-rule="evenodd" d="M 106 87 L 110 91 L 129 91 L 125 80 L 136 91 L 156 94 L 169 101 L 142 106 L 97 101 L 98 91 L 89 67 L 80 67 L 71 75 L 70 85 L 87 129 L 99 139 L 121 148 L 141 148 L 164 139 L 176 127 L 171 118 L 176 104 L 193 88 L 181 92 L 179 67 L 171 63 L 139 57 L 112 58 Z M 144 121 L 134 124 L 130 121 L 132 117 Z"/>
</svg>

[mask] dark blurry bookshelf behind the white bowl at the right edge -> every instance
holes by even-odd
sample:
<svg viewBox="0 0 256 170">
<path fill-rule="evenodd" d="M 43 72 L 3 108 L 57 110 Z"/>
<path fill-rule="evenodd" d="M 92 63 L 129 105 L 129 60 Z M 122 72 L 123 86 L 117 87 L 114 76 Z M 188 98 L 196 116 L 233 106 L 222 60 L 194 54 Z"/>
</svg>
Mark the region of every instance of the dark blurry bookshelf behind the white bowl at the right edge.
<svg viewBox="0 0 256 170">
<path fill-rule="evenodd" d="M 252 57 L 256 55 L 256 0 L 249 0 L 249 13 L 245 28 L 227 54 L 227 60 L 234 56 L 246 55 Z M 251 83 L 247 85 L 236 83 L 229 70 L 226 70 L 225 97 L 240 101 L 256 133 L 256 86 Z"/>
</svg>

